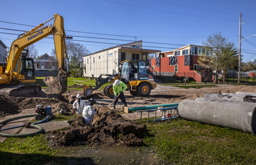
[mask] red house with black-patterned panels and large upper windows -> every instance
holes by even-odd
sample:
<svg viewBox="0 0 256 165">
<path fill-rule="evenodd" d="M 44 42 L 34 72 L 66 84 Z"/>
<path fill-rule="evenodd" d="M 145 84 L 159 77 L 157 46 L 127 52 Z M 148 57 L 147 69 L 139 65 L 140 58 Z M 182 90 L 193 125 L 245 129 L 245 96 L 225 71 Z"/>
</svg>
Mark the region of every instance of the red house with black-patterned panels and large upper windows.
<svg viewBox="0 0 256 165">
<path fill-rule="evenodd" d="M 198 72 L 208 72 L 208 68 L 201 68 L 197 63 L 198 56 L 212 56 L 212 51 L 206 50 L 199 45 L 186 45 L 179 49 L 158 52 L 151 59 L 149 68 L 154 74 L 164 75 L 165 72 L 173 72 L 172 76 L 190 77 L 201 82 L 202 77 Z M 209 72 L 210 73 L 210 72 Z"/>
</svg>

